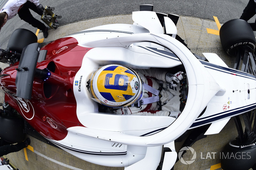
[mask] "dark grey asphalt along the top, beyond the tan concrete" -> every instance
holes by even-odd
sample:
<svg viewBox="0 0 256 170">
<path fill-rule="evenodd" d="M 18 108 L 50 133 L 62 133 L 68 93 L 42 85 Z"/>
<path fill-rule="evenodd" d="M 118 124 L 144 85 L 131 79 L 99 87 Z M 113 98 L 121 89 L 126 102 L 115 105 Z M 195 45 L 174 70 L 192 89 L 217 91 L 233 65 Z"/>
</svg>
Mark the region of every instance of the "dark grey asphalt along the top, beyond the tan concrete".
<svg viewBox="0 0 256 170">
<path fill-rule="evenodd" d="M 2 9 L 0 0 L 0 9 Z M 107 16 L 131 14 L 132 11 L 138 11 L 140 4 L 153 4 L 154 11 L 162 13 L 173 13 L 180 16 L 191 16 L 206 20 L 213 20 L 212 16 L 219 18 L 220 23 L 225 23 L 230 19 L 240 18 L 244 7 L 249 0 L 40 0 L 43 5 L 55 7 L 54 12 L 62 15 L 60 25 L 68 25 L 71 23 L 101 18 Z M 31 12 L 33 16 L 40 20 L 35 12 Z M 255 17 L 250 19 L 254 22 Z M 1 30 L 0 45 L 3 49 L 7 47 L 11 33 L 17 28 L 26 28 L 36 32 L 36 28 L 21 20 L 18 16 L 9 20 Z M 73 27 L 76 29 L 76 26 Z M 73 29 L 72 28 L 72 29 Z M 51 35 L 52 36 L 52 35 Z"/>
</svg>

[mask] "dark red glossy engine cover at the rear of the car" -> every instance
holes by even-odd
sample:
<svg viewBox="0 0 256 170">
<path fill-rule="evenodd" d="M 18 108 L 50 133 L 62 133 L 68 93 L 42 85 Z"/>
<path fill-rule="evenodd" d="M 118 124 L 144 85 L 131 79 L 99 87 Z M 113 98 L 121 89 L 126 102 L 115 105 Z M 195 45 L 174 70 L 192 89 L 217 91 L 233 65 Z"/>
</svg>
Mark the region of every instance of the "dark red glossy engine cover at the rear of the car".
<svg viewBox="0 0 256 170">
<path fill-rule="evenodd" d="M 37 63 L 36 68 L 47 68 L 52 75 L 46 81 L 34 79 L 31 100 L 16 96 L 15 68 L 18 68 L 19 63 L 2 71 L 2 74 L 8 75 L 0 81 L 5 91 L 5 102 L 17 110 L 37 132 L 49 139 L 61 140 L 67 136 L 67 128 L 83 126 L 76 116 L 73 82 L 84 55 L 91 48 L 77 44 L 75 38 L 66 37 L 41 48 L 48 50 L 46 59 Z"/>
</svg>

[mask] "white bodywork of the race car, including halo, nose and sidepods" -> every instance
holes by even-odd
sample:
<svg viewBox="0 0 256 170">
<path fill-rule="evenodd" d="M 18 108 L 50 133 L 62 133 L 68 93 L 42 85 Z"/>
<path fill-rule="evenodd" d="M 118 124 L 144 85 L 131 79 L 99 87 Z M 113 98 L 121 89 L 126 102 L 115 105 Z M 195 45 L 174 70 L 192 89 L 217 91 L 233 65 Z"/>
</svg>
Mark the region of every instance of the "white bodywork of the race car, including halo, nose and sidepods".
<svg viewBox="0 0 256 170">
<path fill-rule="evenodd" d="M 175 39 L 177 28 L 170 18 L 164 17 L 164 24 L 172 36 L 163 34 L 155 12 L 136 11 L 132 19 L 133 25 L 98 26 L 69 35 L 89 50 L 74 78 L 81 80 L 80 89 L 73 85 L 76 115 L 84 127 L 70 127 L 67 137 L 52 142 L 86 161 L 127 170 L 156 169 L 164 146 L 171 149 L 164 157 L 167 170 L 177 158 L 174 140 L 186 130 L 213 122 L 205 134 L 218 133 L 230 117 L 256 106 L 256 78 L 228 68 L 216 54 L 204 53 L 209 62 L 199 61 Z M 92 71 L 107 64 L 132 69 L 184 68 L 189 90 L 180 116 L 100 113 L 86 85 Z M 248 88 L 254 90 L 248 94 Z"/>
</svg>

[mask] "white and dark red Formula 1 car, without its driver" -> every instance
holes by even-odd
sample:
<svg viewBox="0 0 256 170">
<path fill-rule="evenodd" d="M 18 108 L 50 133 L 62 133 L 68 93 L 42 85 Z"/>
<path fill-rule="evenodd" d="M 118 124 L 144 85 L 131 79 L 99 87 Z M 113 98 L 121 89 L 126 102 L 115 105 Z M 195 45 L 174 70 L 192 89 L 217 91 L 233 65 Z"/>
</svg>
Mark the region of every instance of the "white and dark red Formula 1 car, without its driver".
<svg viewBox="0 0 256 170">
<path fill-rule="evenodd" d="M 1 72 L 1 126 L 21 116 L 53 144 L 94 164 L 170 170 L 177 159 L 174 140 L 188 129 L 209 125 L 204 134 L 216 134 L 231 117 L 256 108 L 255 74 L 228 68 L 216 54 L 193 54 L 177 35 L 179 16 L 140 7 L 132 13 L 133 25 L 97 26 L 43 47 L 34 33 L 15 30 L 0 53 L 1 61 L 10 64 Z M 255 48 L 255 42 L 233 47 Z M 183 71 L 179 116 L 105 111 L 90 97 L 90 78 L 95 68 L 108 64 Z M 21 129 L 17 126 L 5 129 L 13 134 Z M 7 141 L 24 139 L 5 134 L 0 137 Z"/>
</svg>

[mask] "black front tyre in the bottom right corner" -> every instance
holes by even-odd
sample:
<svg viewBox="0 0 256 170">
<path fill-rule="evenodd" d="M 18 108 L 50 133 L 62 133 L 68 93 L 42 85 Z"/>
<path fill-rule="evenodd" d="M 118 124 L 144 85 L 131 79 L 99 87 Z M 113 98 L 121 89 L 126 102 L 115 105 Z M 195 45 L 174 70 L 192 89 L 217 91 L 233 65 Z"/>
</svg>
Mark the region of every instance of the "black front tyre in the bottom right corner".
<svg viewBox="0 0 256 170">
<path fill-rule="evenodd" d="M 234 141 L 232 141 L 234 142 Z M 248 170 L 256 161 L 256 144 L 236 145 L 228 143 L 220 153 L 223 170 Z"/>
</svg>

